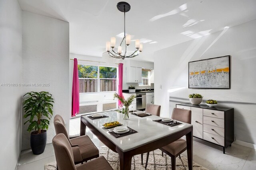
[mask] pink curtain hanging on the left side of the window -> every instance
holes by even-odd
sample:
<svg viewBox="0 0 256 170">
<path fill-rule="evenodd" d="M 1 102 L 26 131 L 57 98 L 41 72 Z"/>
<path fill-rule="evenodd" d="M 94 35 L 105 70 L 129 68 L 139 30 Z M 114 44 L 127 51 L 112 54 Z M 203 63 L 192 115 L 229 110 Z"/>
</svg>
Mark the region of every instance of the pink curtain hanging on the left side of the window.
<svg viewBox="0 0 256 170">
<path fill-rule="evenodd" d="M 79 80 L 77 59 L 74 59 L 73 84 L 72 84 L 72 117 L 79 113 Z"/>
</svg>

